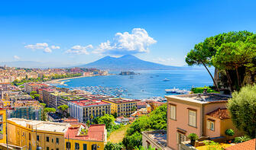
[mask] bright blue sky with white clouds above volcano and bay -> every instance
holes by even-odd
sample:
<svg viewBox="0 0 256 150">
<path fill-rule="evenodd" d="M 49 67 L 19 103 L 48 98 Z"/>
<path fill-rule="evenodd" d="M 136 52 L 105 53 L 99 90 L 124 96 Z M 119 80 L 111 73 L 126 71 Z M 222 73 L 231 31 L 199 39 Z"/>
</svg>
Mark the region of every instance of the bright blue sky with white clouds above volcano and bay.
<svg viewBox="0 0 256 150">
<path fill-rule="evenodd" d="M 86 64 L 132 54 L 186 65 L 206 37 L 255 32 L 254 1 L 5 1 L 0 4 L 0 62 Z"/>
</svg>

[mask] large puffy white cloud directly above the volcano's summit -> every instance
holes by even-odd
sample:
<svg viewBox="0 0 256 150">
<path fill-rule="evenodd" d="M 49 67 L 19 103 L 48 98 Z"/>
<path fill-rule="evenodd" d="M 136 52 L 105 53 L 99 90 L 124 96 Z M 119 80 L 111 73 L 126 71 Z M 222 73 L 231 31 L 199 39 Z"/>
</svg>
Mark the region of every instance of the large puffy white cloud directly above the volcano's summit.
<svg viewBox="0 0 256 150">
<path fill-rule="evenodd" d="M 92 53 L 112 55 L 148 53 L 148 47 L 154 43 L 157 41 L 149 37 L 146 30 L 134 28 L 131 34 L 128 32 L 115 34 L 112 42 L 107 40 L 105 43 L 100 43 Z"/>
</svg>

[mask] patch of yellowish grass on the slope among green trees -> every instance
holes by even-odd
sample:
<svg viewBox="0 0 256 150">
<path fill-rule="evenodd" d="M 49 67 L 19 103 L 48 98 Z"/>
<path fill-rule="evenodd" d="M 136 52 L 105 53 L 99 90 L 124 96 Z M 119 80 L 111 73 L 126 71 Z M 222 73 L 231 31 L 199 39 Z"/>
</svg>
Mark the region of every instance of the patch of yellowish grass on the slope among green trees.
<svg viewBox="0 0 256 150">
<path fill-rule="evenodd" d="M 108 142 L 118 143 L 122 142 L 122 139 L 125 137 L 125 133 L 130 125 L 123 126 L 120 129 L 115 130 L 114 132 L 110 133 L 108 138 Z"/>
</svg>

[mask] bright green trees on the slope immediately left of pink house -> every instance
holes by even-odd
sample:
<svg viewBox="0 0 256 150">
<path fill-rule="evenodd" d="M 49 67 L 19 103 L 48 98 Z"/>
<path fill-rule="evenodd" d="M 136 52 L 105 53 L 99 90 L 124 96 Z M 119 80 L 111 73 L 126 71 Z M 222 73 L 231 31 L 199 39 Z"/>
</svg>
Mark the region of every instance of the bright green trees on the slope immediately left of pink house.
<svg viewBox="0 0 256 150">
<path fill-rule="evenodd" d="M 139 135 L 137 138 L 140 139 L 141 132 L 154 129 L 167 129 L 167 104 L 157 107 L 157 109 L 152 111 L 148 116 L 141 116 L 131 123 L 123 139 L 125 148 L 139 148 L 141 141 L 133 141 L 134 136 Z"/>
</svg>

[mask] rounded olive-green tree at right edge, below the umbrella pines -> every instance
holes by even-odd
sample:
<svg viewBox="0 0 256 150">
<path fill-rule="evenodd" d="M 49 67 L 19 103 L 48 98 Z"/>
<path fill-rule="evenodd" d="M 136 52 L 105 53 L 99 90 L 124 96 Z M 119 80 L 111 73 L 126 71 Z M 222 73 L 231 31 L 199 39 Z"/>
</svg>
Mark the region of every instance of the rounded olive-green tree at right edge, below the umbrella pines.
<svg viewBox="0 0 256 150">
<path fill-rule="evenodd" d="M 228 101 L 228 110 L 234 125 L 254 138 L 256 132 L 256 85 L 247 85 L 235 91 Z"/>
</svg>

